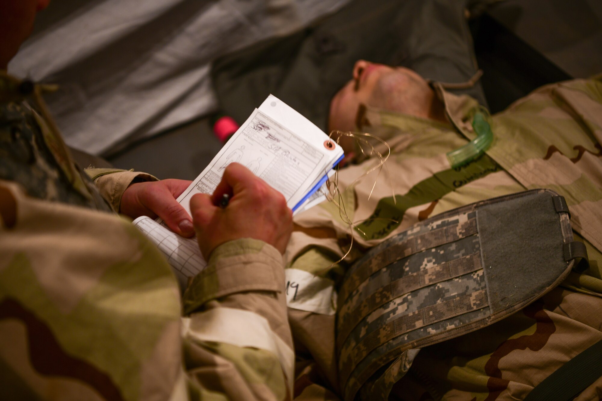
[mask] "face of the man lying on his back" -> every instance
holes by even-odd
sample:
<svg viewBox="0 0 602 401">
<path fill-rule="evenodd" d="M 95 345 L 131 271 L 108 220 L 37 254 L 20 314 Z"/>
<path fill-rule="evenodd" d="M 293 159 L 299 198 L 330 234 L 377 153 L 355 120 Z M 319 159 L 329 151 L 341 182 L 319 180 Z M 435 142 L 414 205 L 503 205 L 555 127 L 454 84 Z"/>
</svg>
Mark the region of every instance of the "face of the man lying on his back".
<svg viewBox="0 0 602 401">
<path fill-rule="evenodd" d="M 421 115 L 431 93 L 424 78 L 412 70 L 359 60 L 353 78 L 330 101 L 329 129 L 356 129 L 360 104 Z"/>
</svg>

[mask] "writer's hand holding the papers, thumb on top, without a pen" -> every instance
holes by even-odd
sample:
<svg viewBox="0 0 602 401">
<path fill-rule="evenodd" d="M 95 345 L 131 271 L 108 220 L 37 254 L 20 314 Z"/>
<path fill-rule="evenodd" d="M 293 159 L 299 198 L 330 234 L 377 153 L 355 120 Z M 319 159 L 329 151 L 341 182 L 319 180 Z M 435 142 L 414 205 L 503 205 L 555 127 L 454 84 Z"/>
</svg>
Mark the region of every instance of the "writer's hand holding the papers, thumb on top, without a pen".
<svg viewBox="0 0 602 401">
<path fill-rule="evenodd" d="M 176 234 L 192 237 L 194 235 L 192 219 L 176 201 L 178 196 L 188 188 L 190 182 L 192 181 L 184 179 L 163 179 L 131 184 L 121 197 L 119 213 L 132 219 L 140 216 L 155 219 L 158 216 Z"/>
</svg>

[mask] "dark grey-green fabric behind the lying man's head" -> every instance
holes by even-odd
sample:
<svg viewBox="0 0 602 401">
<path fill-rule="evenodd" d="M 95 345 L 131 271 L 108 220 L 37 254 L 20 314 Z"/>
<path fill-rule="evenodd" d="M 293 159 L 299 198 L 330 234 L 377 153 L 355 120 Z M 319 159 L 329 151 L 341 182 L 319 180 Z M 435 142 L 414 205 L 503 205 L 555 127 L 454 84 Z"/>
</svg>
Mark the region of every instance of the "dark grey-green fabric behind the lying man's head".
<svg viewBox="0 0 602 401">
<path fill-rule="evenodd" d="M 353 0 L 285 38 L 219 58 L 213 77 L 222 110 L 244 122 L 272 93 L 326 131 L 330 98 L 361 58 L 459 83 L 477 72 L 467 9 L 495 0 Z M 468 93 L 486 105 L 477 84 Z"/>
</svg>

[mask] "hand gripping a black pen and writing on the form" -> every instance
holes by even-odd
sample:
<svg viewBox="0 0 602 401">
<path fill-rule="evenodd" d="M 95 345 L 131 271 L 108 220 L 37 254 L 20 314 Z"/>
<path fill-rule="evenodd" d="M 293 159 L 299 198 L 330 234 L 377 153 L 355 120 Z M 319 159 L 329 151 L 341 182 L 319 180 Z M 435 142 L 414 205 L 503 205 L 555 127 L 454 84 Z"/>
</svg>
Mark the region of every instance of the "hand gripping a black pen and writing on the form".
<svg viewBox="0 0 602 401">
<path fill-rule="evenodd" d="M 220 208 L 223 194 L 230 202 Z M 284 253 L 293 231 L 293 212 L 284 196 L 238 163 L 226 167 L 213 195 L 194 195 L 190 211 L 205 260 L 216 247 L 238 238 L 255 238 Z"/>
</svg>

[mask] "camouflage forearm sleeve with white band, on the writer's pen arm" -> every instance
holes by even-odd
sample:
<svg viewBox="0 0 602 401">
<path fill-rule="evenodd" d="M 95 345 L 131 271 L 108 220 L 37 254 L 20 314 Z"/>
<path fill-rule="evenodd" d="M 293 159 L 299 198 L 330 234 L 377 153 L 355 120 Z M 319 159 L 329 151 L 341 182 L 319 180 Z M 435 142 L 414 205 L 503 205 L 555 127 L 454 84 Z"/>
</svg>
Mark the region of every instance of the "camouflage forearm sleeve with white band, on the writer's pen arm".
<svg viewBox="0 0 602 401">
<path fill-rule="evenodd" d="M 274 247 L 244 238 L 214 250 L 184 294 L 193 399 L 291 399 L 295 356 L 284 286 Z"/>
</svg>

